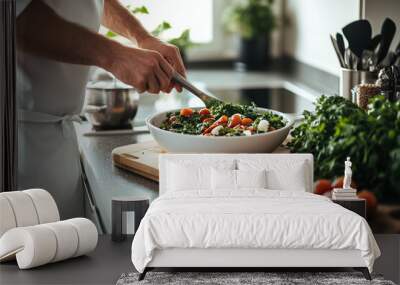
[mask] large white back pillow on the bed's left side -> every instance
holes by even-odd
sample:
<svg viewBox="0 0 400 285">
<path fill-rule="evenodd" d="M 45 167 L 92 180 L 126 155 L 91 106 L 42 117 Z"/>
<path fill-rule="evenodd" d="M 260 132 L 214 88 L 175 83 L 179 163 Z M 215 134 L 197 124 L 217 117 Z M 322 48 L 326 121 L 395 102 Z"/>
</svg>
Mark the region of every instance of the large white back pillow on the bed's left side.
<svg viewBox="0 0 400 285">
<path fill-rule="evenodd" d="M 168 164 L 168 191 L 210 190 L 211 170 L 223 172 L 235 168 L 234 160 L 198 161 L 183 160 Z"/>
</svg>

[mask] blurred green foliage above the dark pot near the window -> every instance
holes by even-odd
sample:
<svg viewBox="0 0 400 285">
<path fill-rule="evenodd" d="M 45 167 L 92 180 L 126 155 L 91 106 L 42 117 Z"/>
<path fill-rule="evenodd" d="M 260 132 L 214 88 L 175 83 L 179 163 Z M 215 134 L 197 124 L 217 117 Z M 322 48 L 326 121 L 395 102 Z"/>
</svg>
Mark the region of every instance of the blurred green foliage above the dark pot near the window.
<svg viewBox="0 0 400 285">
<path fill-rule="evenodd" d="M 273 2 L 273 0 L 247 0 L 245 4 L 229 7 L 224 15 L 227 30 L 239 33 L 245 39 L 269 35 L 276 27 Z"/>
</svg>

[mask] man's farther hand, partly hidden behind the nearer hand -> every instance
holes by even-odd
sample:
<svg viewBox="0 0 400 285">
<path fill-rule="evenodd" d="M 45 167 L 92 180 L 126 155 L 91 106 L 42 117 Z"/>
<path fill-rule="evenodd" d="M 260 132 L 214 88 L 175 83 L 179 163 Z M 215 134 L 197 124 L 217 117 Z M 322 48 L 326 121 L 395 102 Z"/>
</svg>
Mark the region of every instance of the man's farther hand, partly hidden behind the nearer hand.
<svg viewBox="0 0 400 285">
<path fill-rule="evenodd" d="M 176 46 L 162 42 L 152 36 L 145 37 L 144 39 L 138 39 L 137 42 L 141 48 L 159 52 L 169 62 L 174 70 L 186 77 L 186 69 L 183 64 L 179 49 Z M 173 82 L 171 82 L 169 91 L 171 91 L 173 87 L 175 87 L 175 89 L 179 92 L 182 91 L 182 87 L 179 84 L 174 84 Z"/>
</svg>

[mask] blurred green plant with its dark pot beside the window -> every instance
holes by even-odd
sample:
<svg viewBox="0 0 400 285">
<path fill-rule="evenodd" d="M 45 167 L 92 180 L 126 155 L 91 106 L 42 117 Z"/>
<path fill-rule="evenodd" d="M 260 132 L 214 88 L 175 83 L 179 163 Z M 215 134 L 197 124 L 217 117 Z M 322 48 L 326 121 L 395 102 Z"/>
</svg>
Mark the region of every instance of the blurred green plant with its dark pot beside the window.
<svg viewBox="0 0 400 285">
<path fill-rule="evenodd" d="M 260 69 L 269 58 L 271 32 L 276 27 L 273 2 L 246 0 L 226 11 L 226 28 L 241 36 L 239 61 L 246 69 Z"/>
</svg>

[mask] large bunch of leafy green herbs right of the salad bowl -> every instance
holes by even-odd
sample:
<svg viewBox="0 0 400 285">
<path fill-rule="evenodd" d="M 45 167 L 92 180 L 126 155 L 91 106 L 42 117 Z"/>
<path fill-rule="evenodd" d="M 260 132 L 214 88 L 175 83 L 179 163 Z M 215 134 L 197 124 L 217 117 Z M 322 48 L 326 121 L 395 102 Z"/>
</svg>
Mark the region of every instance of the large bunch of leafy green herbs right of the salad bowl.
<svg viewBox="0 0 400 285">
<path fill-rule="evenodd" d="M 370 101 L 368 111 L 338 96 L 322 96 L 314 113 L 292 131 L 292 152 L 314 154 L 316 178 L 343 175 L 347 156 L 359 189 L 379 200 L 400 201 L 400 102 L 383 96 Z"/>
</svg>

